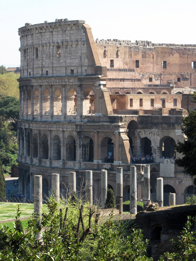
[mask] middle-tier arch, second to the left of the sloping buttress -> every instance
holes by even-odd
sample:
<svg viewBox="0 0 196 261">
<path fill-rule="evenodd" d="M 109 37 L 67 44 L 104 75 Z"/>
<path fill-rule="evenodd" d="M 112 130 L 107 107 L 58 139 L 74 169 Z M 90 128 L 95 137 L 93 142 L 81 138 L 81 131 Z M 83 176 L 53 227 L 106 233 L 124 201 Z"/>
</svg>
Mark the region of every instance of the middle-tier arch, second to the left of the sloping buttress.
<svg viewBox="0 0 196 261">
<path fill-rule="evenodd" d="M 85 137 L 82 142 L 82 161 L 94 160 L 94 142 L 90 137 Z"/>
</svg>

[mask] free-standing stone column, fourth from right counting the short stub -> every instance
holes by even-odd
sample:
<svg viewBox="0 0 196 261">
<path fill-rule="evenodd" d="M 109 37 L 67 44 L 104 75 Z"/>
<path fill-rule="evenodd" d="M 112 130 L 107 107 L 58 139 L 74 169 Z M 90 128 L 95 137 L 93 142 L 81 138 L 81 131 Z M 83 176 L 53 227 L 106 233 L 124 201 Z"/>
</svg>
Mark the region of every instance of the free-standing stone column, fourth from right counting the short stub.
<svg viewBox="0 0 196 261">
<path fill-rule="evenodd" d="M 130 166 L 130 213 L 137 214 L 137 171 Z"/>
</svg>

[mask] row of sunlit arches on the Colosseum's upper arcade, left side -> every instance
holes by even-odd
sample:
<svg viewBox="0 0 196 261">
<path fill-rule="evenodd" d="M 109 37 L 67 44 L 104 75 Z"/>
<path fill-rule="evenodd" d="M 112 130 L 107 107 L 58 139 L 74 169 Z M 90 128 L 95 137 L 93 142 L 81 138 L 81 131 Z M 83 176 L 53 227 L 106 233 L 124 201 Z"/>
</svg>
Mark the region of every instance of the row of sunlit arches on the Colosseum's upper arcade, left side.
<svg viewBox="0 0 196 261">
<path fill-rule="evenodd" d="M 43 92 L 39 89 L 21 91 L 22 114 L 43 115 L 76 115 L 78 107 L 78 95 L 75 89 L 70 89 L 66 96 L 60 89 L 56 89 L 53 95 L 45 88 Z M 63 99 L 64 98 L 64 99 Z M 85 89 L 82 97 L 82 114 L 95 114 L 95 93 L 92 89 Z"/>
</svg>

